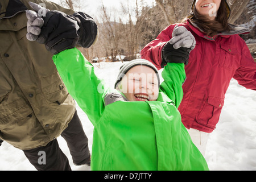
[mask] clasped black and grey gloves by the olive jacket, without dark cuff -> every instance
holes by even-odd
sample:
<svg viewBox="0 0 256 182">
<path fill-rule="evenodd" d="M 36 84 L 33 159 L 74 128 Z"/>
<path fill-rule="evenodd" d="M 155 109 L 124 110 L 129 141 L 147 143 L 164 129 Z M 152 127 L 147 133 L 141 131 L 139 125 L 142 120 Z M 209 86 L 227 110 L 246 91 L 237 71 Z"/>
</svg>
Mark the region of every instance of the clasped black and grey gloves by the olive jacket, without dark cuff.
<svg viewBox="0 0 256 182">
<path fill-rule="evenodd" d="M 80 27 L 75 17 L 60 11 L 49 11 L 36 3 L 29 4 L 35 11 L 29 10 L 26 13 L 28 40 L 45 44 L 53 55 L 76 46 L 80 38 Z"/>
</svg>

